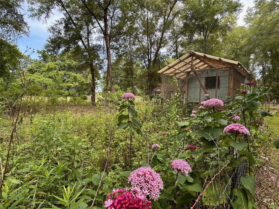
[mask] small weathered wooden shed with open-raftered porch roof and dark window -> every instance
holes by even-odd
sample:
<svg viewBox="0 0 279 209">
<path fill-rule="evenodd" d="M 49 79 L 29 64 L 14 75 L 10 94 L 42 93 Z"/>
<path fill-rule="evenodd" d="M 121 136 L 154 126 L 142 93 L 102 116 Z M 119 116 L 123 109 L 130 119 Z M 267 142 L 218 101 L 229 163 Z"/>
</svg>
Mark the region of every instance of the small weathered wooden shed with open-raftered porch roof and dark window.
<svg viewBox="0 0 279 209">
<path fill-rule="evenodd" d="M 175 76 L 182 100 L 198 102 L 208 93 L 210 98 L 226 100 L 239 93 L 239 87 L 252 80 L 252 75 L 237 61 L 190 51 L 158 71 L 162 76 L 161 92 L 169 98 L 175 91 L 171 77 Z"/>
</svg>

